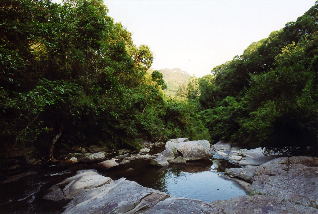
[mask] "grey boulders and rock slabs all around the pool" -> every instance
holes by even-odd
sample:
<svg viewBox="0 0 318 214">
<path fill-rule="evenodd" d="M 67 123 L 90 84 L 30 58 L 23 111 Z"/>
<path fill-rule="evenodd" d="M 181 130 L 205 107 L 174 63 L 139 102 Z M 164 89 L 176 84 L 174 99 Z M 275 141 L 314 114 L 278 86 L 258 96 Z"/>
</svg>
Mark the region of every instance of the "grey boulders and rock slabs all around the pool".
<svg viewBox="0 0 318 214">
<path fill-rule="evenodd" d="M 161 149 L 156 153 L 155 148 Z M 318 213 L 316 157 L 265 156 L 260 148 L 247 150 L 226 142 L 210 147 L 205 140 L 189 142 L 186 138 L 171 139 L 165 144 L 145 143 L 137 152 L 123 149 L 108 154 L 100 147 L 87 150 L 81 146 L 73 150 L 74 153 L 62 157 L 66 164 L 76 166 L 78 161 L 92 162 L 98 163 L 96 166 L 103 170 L 137 160 L 151 160 L 150 164 L 160 169 L 171 164 L 209 159 L 213 154 L 214 158 L 236 164 L 237 167 L 225 170 L 225 177 L 240 184 L 251 196 L 203 202 L 170 197 L 165 192 L 125 178 L 113 180 L 96 170 L 79 170 L 73 177 L 48 187 L 49 193 L 44 197 L 63 204 L 63 213 Z M 12 176 L 2 184 L 35 173 Z"/>
</svg>

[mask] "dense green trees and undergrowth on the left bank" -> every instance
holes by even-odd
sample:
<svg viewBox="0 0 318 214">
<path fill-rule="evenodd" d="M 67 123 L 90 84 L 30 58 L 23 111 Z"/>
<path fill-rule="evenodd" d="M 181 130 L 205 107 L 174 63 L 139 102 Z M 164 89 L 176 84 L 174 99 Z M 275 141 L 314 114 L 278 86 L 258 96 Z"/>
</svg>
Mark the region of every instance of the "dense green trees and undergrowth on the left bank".
<svg viewBox="0 0 318 214">
<path fill-rule="evenodd" d="M 149 47 L 136 47 L 101 0 L 0 4 L 2 151 L 36 147 L 52 159 L 78 143 L 208 137 L 196 106 L 164 97 L 162 74 L 147 73 Z"/>
</svg>

